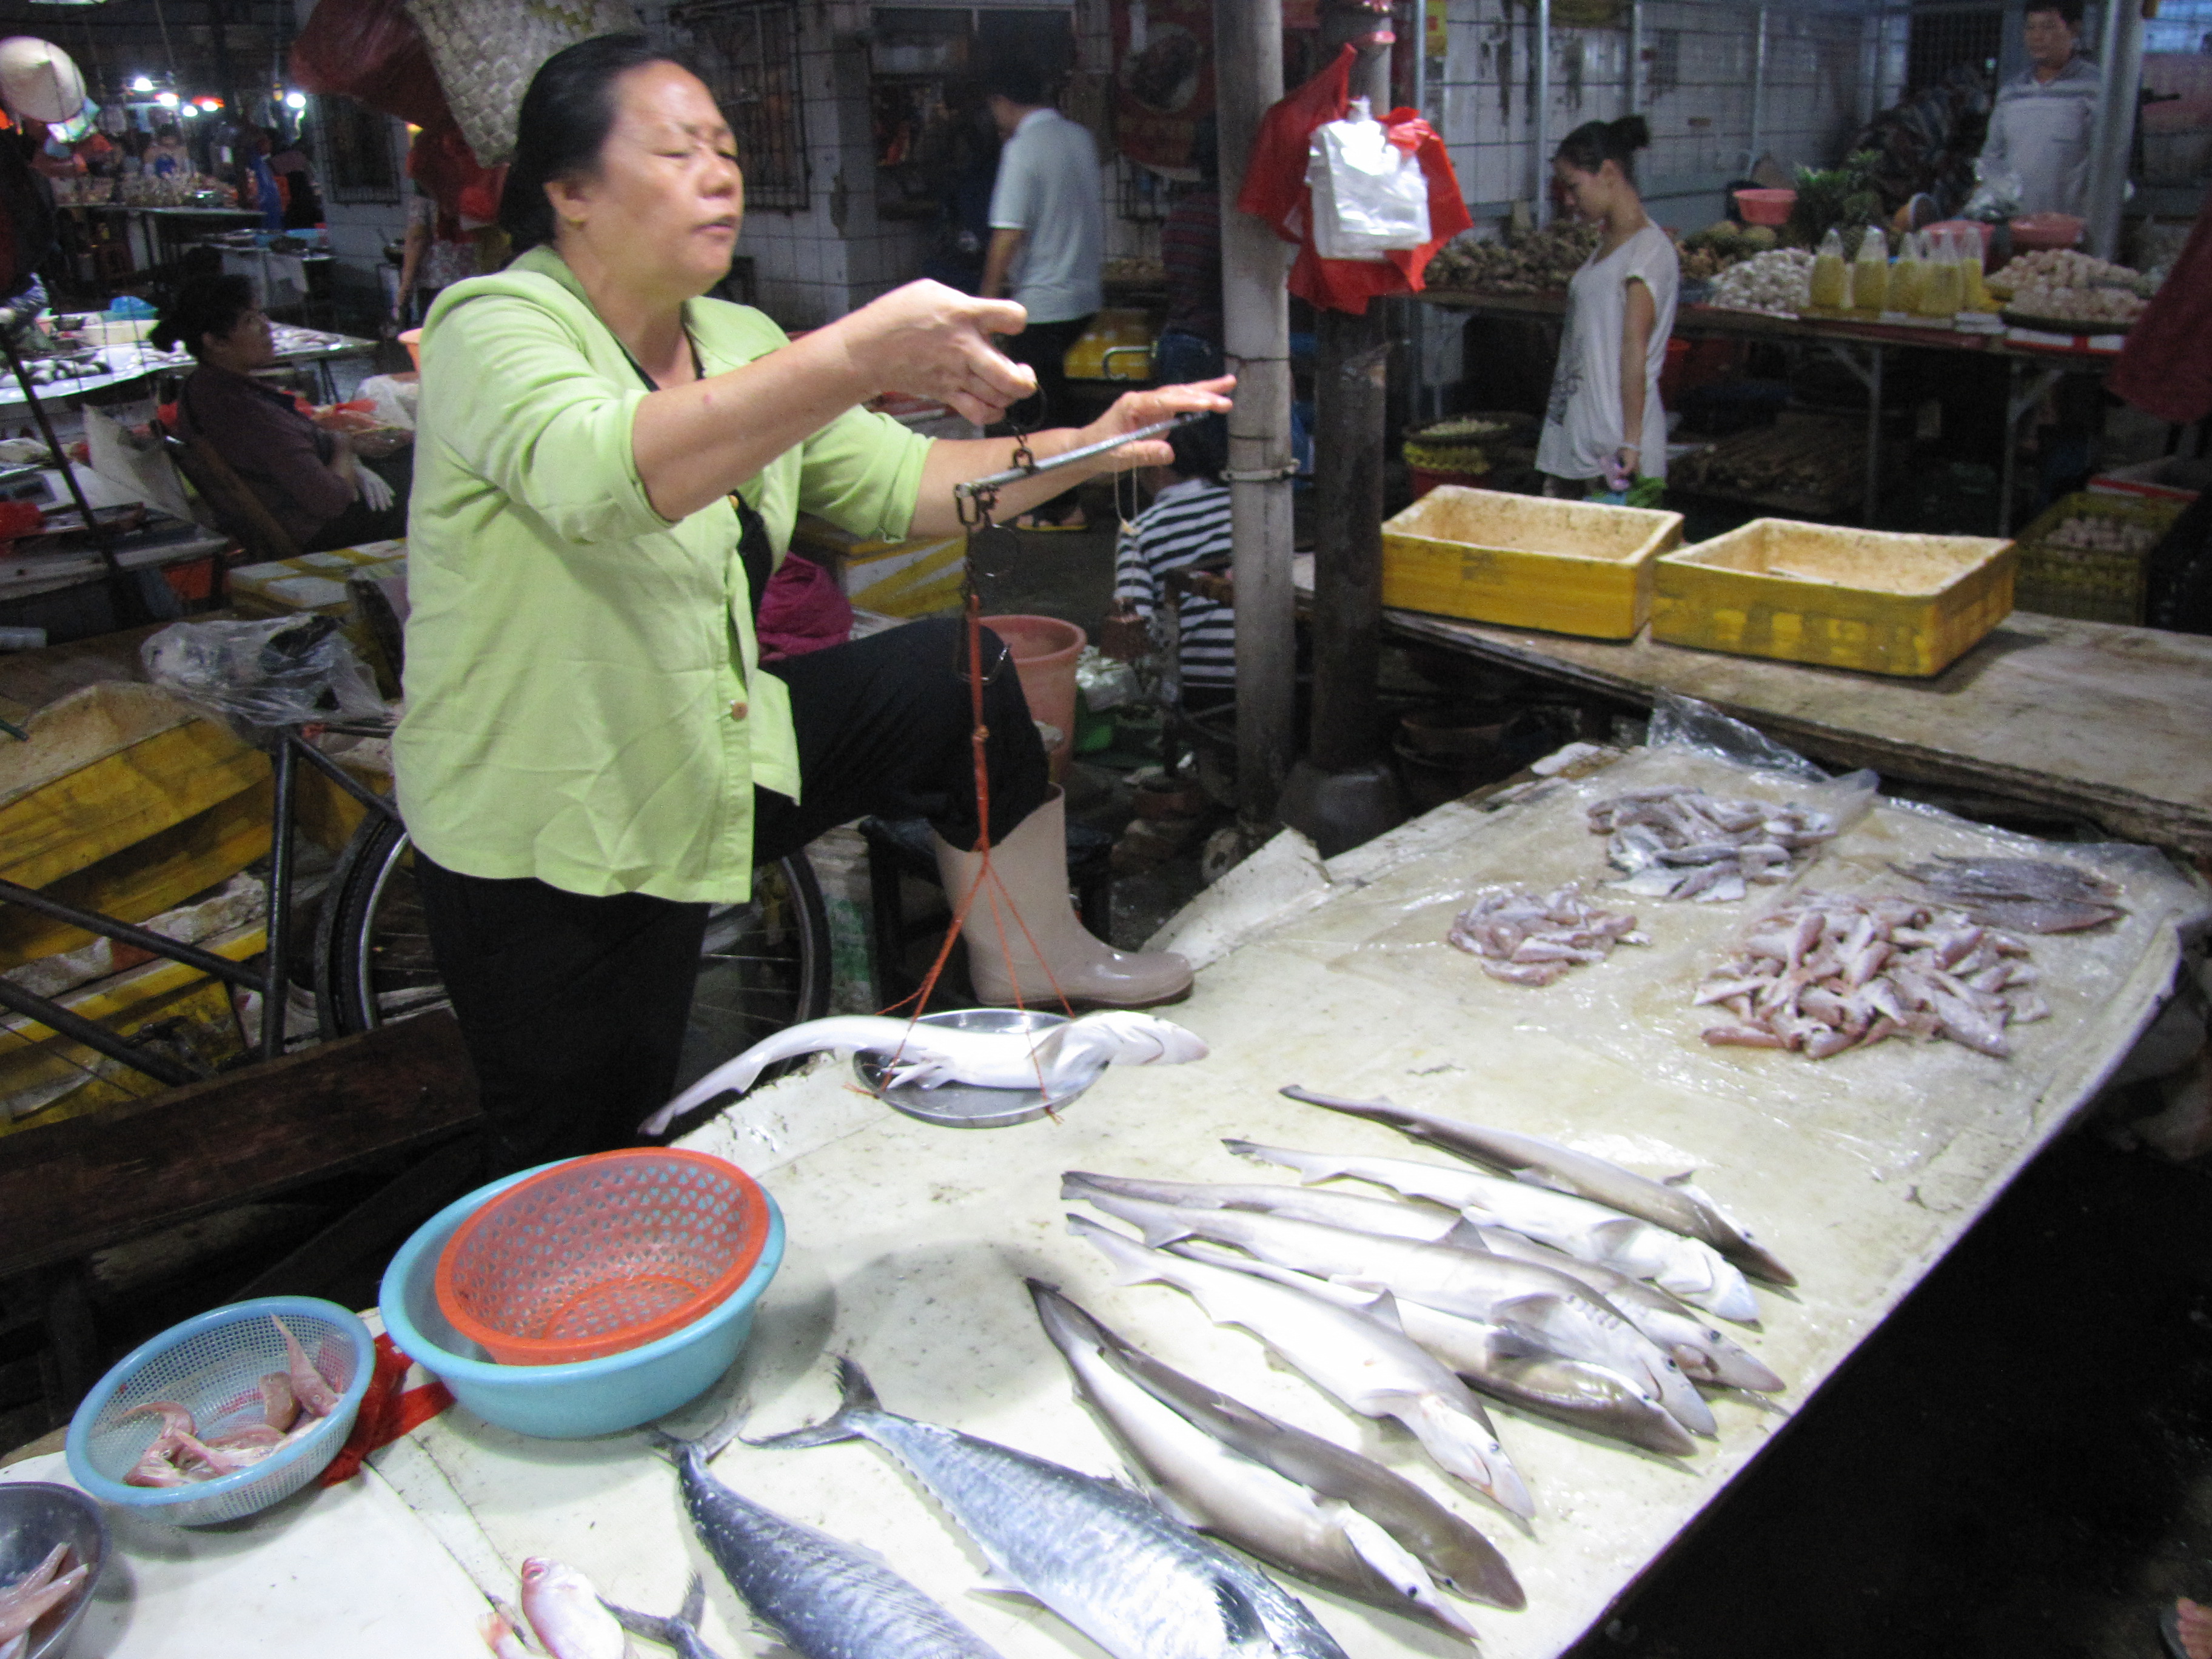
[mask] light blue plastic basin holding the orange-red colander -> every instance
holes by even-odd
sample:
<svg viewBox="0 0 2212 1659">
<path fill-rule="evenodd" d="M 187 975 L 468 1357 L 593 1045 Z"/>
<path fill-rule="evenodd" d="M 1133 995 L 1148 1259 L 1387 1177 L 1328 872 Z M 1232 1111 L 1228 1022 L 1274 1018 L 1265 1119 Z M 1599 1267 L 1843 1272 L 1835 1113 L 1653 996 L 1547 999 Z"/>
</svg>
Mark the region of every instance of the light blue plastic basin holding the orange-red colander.
<svg viewBox="0 0 2212 1659">
<path fill-rule="evenodd" d="M 551 1170 L 553 1164 L 542 1164 Z M 509 1175 L 456 1199 L 422 1223 L 385 1267 L 378 1305 L 392 1340 L 445 1383 L 484 1422 L 540 1440 L 619 1433 L 697 1400 L 737 1363 L 752 1336 L 752 1310 L 783 1265 L 783 1210 L 768 1199 L 761 1261 L 726 1303 L 657 1343 L 573 1365 L 498 1365 L 438 1310 L 438 1256 L 480 1206 L 538 1170 Z"/>
</svg>

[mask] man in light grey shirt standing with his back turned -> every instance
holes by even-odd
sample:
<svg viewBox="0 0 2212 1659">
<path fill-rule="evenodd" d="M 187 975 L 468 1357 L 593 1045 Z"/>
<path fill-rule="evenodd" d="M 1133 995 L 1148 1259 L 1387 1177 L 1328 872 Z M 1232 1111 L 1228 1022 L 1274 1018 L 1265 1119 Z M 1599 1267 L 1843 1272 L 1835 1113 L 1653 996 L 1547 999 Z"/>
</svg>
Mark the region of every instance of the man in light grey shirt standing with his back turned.
<svg viewBox="0 0 2212 1659">
<path fill-rule="evenodd" d="M 1035 60 L 1000 58 L 984 73 L 984 97 L 1006 144 L 991 188 L 982 299 L 1011 299 L 1029 312 L 1029 327 L 1002 345 L 1006 356 L 1037 372 L 1037 403 L 1009 414 L 1031 431 L 1075 425 L 1062 358 L 1091 327 L 1102 296 L 1106 201 L 1097 148 L 1084 126 L 1051 106 Z M 1053 518 L 1051 502 L 1033 513 L 1037 526 L 1082 524 L 1079 511 L 1071 524 Z"/>
</svg>

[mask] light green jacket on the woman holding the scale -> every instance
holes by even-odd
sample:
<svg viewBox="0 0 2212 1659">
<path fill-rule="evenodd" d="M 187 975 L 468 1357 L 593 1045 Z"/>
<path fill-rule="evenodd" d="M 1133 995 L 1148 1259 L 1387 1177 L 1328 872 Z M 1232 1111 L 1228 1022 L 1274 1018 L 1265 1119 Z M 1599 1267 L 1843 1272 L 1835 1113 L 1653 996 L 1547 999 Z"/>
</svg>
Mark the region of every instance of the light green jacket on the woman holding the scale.
<svg viewBox="0 0 2212 1659">
<path fill-rule="evenodd" d="M 708 374 L 785 345 L 695 299 Z M 646 385 L 551 248 L 453 283 L 422 327 L 407 522 L 416 845 L 469 876 L 737 902 L 754 785 L 799 799 L 790 697 L 759 666 L 728 500 L 670 524 L 630 422 Z M 898 540 L 929 440 L 849 409 L 739 487 L 776 557 L 801 509 Z"/>
</svg>

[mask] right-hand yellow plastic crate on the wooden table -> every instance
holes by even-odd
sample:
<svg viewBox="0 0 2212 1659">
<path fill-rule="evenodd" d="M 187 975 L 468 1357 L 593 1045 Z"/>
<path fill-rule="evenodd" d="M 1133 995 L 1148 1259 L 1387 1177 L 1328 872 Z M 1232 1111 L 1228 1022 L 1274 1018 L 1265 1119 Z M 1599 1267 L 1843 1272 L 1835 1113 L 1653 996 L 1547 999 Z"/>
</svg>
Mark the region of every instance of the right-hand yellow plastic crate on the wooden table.
<svg viewBox="0 0 2212 1659">
<path fill-rule="evenodd" d="M 1940 675 L 2013 611 L 2011 542 L 1754 518 L 1657 564 L 1652 639 Z"/>
</svg>

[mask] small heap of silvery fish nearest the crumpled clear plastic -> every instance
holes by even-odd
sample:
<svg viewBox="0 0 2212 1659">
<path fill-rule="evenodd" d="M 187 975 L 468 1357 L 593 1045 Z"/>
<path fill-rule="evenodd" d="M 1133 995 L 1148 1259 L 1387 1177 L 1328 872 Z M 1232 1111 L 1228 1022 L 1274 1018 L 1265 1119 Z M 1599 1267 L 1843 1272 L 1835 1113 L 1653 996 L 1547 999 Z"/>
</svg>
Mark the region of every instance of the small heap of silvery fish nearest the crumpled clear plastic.
<svg viewBox="0 0 2212 1659">
<path fill-rule="evenodd" d="M 1701 905 L 1728 905 L 1754 885 L 1787 880 L 1838 827 L 1814 807 L 1721 801 L 1686 783 L 1608 796 L 1588 821 L 1621 872 L 1613 887 Z"/>
</svg>

